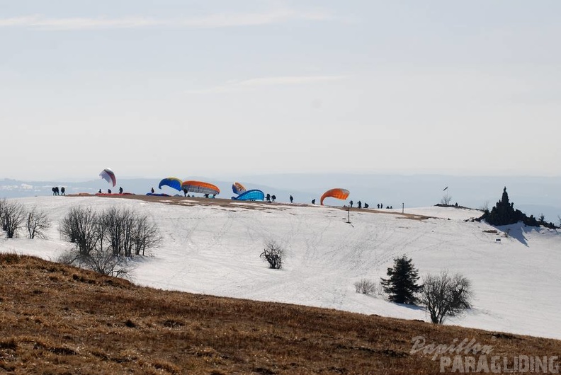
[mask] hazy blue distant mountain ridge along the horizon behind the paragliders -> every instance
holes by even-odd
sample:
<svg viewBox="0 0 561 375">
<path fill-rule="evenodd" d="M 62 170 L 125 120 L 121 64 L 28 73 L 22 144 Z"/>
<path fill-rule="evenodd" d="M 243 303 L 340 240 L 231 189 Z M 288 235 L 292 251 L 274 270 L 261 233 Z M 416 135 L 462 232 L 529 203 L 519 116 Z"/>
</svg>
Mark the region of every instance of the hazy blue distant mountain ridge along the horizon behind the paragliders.
<svg viewBox="0 0 561 375">
<path fill-rule="evenodd" d="M 205 180 L 220 188 L 220 197 L 229 198 L 234 180 L 190 177 Z M 67 194 L 78 192 L 118 190 L 123 186 L 126 192 L 145 194 L 151 188 L 158 190 L 159 178 L 119 178 L 118 185 L 112 188 L 101 179 L 67 183 L 64 181 L 0 180 L 0 198 L 30 197 L 51 195 L 51 188 L 59 185 Z M 290 173 L 267 175 L 241 175 L 236 180 L 248 189 L 259 189 L 276 195 L 279 201 L 288 202 L 293 195 L 297 203 L 319 202 L 322 193 L 330 188 L 346 188 L 351 192 L 348 200 L 368 202 L 370 207 L 383 204 L 384 207 L 426 207 L 440 203 L 444 192 L 452 197 L 451 202 L 472 208 L 489 205 L 492 207 L 501 197 L 504 186 L 509 190 L 511 201 L 516 208 L 534 217 L 544 214 L 548 221 L 557 221 L 561 215 L 561 176 L 455 176 L 455 175 L 356 175 L 351 173 Z M 159 190 L 158 190 L 159 191 Z M 182 194 L 164 188 L 168 194 Z M 327 202 L 326 202 L 327 203 Z M 343 205 L 348 202 L 330 200 L 327 204 Z"/>
</svg>

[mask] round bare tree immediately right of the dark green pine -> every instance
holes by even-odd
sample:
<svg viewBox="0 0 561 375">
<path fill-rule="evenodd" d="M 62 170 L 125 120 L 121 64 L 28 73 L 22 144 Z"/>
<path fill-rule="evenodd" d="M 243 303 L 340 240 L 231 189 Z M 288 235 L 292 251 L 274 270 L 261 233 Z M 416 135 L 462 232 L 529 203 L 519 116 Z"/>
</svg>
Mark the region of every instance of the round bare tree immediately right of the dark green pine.
<svg viewBox="0 0 561 375">
<path fill-rule="evenodd" d="M 471 282 L 463 275 L 450 276 L 448 271 L 440 275 L 426 275 L 419 301 L 431 316 L 431 322 L 441 324 L 446 318 L 460 316 L 471 308 Z"/>
</svg>

